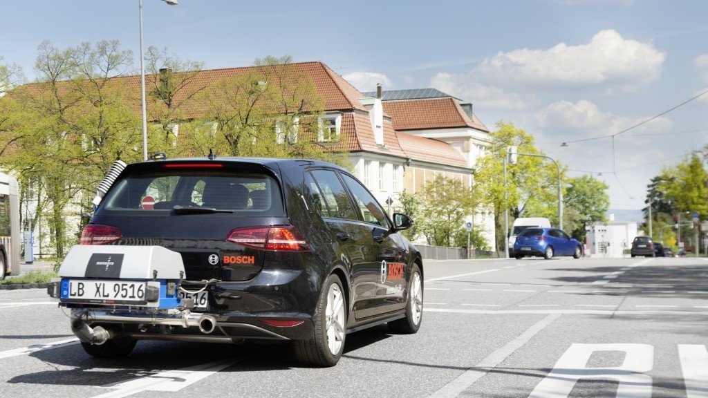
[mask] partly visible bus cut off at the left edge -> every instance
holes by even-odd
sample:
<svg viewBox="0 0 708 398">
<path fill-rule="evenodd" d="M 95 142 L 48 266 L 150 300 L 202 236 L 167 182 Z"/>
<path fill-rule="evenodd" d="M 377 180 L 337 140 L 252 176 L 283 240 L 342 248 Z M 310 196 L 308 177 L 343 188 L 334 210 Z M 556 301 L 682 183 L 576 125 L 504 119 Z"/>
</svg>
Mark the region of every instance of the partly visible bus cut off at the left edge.
<svg viewBox="0 0 708 398">
<path fill-rule="evenodd" d="M 17 180 L 0 173 L 0 280 L 20 273 L 20 203 Z"/>
</svg>

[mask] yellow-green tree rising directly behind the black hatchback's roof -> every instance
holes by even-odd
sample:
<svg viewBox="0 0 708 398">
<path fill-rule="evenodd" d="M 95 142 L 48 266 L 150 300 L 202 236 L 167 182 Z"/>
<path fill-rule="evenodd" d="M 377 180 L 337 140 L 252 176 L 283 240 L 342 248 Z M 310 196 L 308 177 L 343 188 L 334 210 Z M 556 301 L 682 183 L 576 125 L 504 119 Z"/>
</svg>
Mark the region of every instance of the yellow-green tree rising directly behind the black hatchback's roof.
<svg viewBox="0 0 708 398">
<path fill-rule="evenodd" d="M 256 59 L 255 67 L 219 81 L 203 98 L 213 123 L 196 129 L 202 151 L 214 148 L 230 156 L 321 159 L 349 166 L 338 142 L 318 140 L 324 99 L 312 76 L 289 56 Z"/>
</svg>

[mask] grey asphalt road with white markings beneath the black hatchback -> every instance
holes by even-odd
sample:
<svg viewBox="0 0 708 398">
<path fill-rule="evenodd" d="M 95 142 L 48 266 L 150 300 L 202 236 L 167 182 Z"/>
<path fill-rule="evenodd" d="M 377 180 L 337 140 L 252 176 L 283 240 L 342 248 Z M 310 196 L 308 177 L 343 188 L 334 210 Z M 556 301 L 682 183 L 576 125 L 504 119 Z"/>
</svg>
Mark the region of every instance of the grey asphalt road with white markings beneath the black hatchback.
<svg viewBox="0 0 708 398">
<path fill-rule="evenodd" d="M 76 343 L 43 290 L 0 291 L 0 397 L 708 397 L 708 259 L 427 261 L 418 334 L 282 345 Z M 688 392 L 687 392 L 688 391 Z"/>
</svg>

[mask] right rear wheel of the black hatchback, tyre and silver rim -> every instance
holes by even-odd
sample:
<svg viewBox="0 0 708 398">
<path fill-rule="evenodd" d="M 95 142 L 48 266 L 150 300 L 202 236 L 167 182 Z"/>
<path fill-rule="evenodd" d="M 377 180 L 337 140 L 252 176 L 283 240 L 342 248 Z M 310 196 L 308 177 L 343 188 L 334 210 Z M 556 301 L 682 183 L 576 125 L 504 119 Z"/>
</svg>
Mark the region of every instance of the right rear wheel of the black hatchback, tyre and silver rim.
<svg viewBox="0 0 708 398">
<path fill-rule="evenodd" d="M 329 275 L 317 300 L 314 336 L 293 342 L 300 363 L 317 367 L 334 366 L 344 351 L 346 300 L 337 275 Z"/>
</svg>

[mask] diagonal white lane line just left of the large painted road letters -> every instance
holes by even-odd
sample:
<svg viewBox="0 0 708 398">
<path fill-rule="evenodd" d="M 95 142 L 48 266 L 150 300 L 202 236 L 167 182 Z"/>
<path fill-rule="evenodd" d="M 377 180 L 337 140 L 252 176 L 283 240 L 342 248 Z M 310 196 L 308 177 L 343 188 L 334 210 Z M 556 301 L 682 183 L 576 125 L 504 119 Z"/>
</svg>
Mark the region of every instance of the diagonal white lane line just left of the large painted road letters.
<svg viewBox="0 0 708 398">
<path fill-rule="evenodd" d="M 462 393 L 464 390 L 467 390 L 467 388 L 473 385 L 474 382 L 486 375 L 489 370 L 496 368 L 497 365 L 513 354 L 514 351 L 523 347 L 525 343 L 533 338 L 533 336 L 536 336 L 539 331 L 542 331 L 546 326 L 559 317 L 559 314 L 551 314 L 544 319 L 541 319 L 539 322 L 536 322 L 529 329 L 526 329 L 526 331 L 520 334 L 516 339 L 513 339 L 512 341 L 506 343 L 505 346 L 498 348 L 496 351 L 489 354 L 489 356 L 481 360 L 480 363 L 477 363 L 472 368 L 467 369 L 464 373 L 462 373 L 462 375 L 455 378 L 455 380 L 447 383 L 440 390 L 433 392 L 432 396 L 435 398 L 457 397 L 457 395 Z"/>
</svg>

